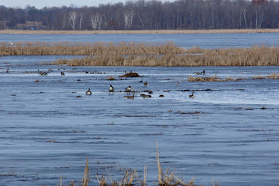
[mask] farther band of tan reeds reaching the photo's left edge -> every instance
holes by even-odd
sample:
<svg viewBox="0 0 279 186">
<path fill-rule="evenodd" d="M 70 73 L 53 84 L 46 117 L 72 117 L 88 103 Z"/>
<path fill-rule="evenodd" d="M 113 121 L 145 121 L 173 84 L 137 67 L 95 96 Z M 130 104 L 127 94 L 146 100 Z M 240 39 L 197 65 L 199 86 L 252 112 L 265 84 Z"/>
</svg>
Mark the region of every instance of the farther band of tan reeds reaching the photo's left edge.
<svg viewBox="0 0 279 186">
<path fill-rule="evenodd" d="M 172 41 L 166 43 L 45 43 L 17 42 L 0 43 L 0 55 L 165 55 L 183 54 Z"/>
</svg>

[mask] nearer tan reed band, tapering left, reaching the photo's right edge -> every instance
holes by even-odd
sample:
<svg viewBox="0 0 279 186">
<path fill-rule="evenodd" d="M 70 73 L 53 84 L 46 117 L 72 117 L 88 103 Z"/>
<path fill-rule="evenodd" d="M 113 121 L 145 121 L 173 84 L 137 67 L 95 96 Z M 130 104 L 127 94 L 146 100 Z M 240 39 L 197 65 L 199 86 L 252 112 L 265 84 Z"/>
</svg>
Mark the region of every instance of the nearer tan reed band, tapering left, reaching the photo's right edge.
<svg viewBox="0 0 279 186">
<path fill-rule="evenodd" d="M 175 51 L 175 50 L 174 50 Z M 279 47 L 264 45 L 251 48 L 225 48 L 185 50 L 185 55 L 176 55 L 173 50 L 163 56 L 119 54 L 59 59 L 52 64 L 68 66 L 278 66 Z M 196 55 L 196 53 L 199 53 Z"/>
</svg>

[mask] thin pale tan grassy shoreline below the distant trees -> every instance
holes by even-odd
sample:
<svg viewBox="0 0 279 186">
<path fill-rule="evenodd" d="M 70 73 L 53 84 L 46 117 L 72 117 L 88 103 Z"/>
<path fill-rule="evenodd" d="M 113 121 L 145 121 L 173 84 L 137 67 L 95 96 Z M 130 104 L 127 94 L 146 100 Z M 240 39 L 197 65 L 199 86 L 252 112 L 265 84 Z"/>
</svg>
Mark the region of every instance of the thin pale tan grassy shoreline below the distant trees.
<svg viewBox="0 0 279 186">
<path fill-rule="evenodd" d="M 279 33 L 279 29 L 209 30 L 0 30 L 0 34 L 250 34 Z"/>
</svg>

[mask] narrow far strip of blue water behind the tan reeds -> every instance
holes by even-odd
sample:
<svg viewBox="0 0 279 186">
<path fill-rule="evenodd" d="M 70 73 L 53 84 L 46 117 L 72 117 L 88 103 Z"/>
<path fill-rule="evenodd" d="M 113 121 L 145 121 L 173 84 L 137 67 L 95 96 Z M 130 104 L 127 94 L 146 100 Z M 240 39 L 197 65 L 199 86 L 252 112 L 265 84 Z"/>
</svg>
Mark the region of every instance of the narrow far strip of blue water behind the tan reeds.
<svg viewBox="0 0 279 186">
<path fill-rule="evenodd" d="M 190 48 L 246 48 L 252 45 L 279 45 L 279 33 L 254 34 L 0 34 L 0 42 L 45 41 L 45 42 L 150 42 L 173 41 L 179 47 Z"/>
</svg>

